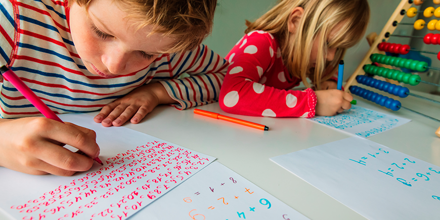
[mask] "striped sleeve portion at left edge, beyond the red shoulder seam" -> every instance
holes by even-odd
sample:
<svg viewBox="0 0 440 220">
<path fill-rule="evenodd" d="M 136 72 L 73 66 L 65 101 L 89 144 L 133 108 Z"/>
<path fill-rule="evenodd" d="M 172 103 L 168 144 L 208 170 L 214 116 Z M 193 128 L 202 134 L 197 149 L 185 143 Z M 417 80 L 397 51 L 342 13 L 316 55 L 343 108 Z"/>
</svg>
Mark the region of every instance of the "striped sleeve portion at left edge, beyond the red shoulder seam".
<svg viewBox="0 0 440 220">
<path fill-rule="evenodd" d="M 15 34 L 14 10 L 8 0 L 0 0 L 0 66 L 10 62 L 14 49 Z"/>
</svg>

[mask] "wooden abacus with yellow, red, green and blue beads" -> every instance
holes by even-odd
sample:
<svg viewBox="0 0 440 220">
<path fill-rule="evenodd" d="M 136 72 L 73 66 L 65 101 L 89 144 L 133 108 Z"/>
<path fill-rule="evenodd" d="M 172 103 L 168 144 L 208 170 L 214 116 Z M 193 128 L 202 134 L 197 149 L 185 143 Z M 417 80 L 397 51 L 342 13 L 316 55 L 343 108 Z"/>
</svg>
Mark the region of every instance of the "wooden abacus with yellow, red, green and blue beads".
<svg viewBox="0 0 440 220">
<path fill-rule="evenodd" d="M 440 4 L 440 0 L 433 0 L 434 4 Z M 440 68 L 430 67 L 428 63 L 418 60 L 405 59 L 394 56 L 386 56 L 384 52 L 390 52 L 393 54 L 408 54 L 409 51 L 417 51 L 411 49 L 409 45 L 401 45 L 398 43 L 389 43 L 387 40 L 390 36 L 396 37 L 412 37 L 412 38 L 423 38 L 423 42 L 426 44 L 438 45 L 440 44 L 440 34 L 436 33 L 428 33 L 425 36 L 406 36 L 406 35 L 397 35 L 392 34 L 397 28 L 398 25 L 413 25 L 415 29 L 420 30 L 425 26 L 429 30 L 439 30 L 440 31 L 440 21 L 433 19 L 426 24 L 423 19 L 417 20 L 414 24 L 410 23 L 400 23 L 404 16 L 414 17 L 416 16 L 417 11 L 416 8 L 411 8 L 412 4 L 421 5 L 423 0 L 402 0 L 397 9 L 389 18 L 388 22 L 385 24 L 384 28 L 380 32 L 380 34 L 376 37 L 373 43 L 371 43 L 371 48 L 367 52 L 366 56 L 353 73 L 350 78 L 347 80 L 345 87 L 348 88 L 349 92 L 354 95 L 360 96 L 368 101 L 372 101 L 380 106 L 386 107 L 393 111 L 398 111 L 401 108 L 405 108 L 414 113 L 420 114 L 422 116 L 428 117 L 432 120 L 440 122 L 440 120 L 430 117 L 428 115 L 422 114 L 420 112 L 411 110 L 402 106 L 402 103 L 398 100 L 394 100 L 387 96 L 383 96 L 372 91 L 363 89 L 362 87 L 357 86 L 357 83 L 361 83 L 375 89 L 387 92 L 391 95 L 405 98 L 407 96 L 414 96 L 420 99 L 428 100 L 430 102 L 434 102 L 440 104 L 440 102 L 432 99 L 428 99 L 422 96 L 418 96 L 416 94 L 410 93 L 410 90 L 407 87 L 392 84 L 390 82 L 385 82 L 379 79 L 373 78 L 374 76 L 382 76 L 386 79 L 397 80 L 398 82 L 403 82 L 409 85 L 417 85 L 419 83 L 427 83 L 435 86 L 440 86 L 440 84 L 435 84 L 427 81 L 421 80 L 421 77 L 417 74 L 405 73 L 403 71 L 399 71 L 396 69 L 390 69 L 385 67 L 381 67 L 380 65 L 390 65 L 399 68 L 406 68 L 412 71 L 423 72 L 427 69 L 435 69 L 440 70 Z M 432 16 L 436 18 L 440 18 L 440 7 L 437 9 L 433 7 L 428 7 L 423 10 L 424 17 L 430 18 Z M 422 53 L 430 53 L 436 54 L 437 58 L 440 60 L 440 52 L 424 52 L 417 51 Z M 435 134 L 440 137 L 440 127 L 435 131 Z"/>
</svg>

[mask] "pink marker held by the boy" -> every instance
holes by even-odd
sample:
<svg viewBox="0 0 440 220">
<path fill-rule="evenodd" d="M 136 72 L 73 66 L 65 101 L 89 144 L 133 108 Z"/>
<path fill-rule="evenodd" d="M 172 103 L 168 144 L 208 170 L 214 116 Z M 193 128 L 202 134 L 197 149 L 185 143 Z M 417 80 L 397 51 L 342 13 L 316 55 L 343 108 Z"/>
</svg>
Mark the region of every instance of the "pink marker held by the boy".
<svg viewBox="0 0 440 220">
<path fill-rule="evenodd" d="M 0 74 L 6 80 L 11 82 L 11 84 L 15 86 L 18 92 L 23 94 L 24 98 L 29 100 L 29 102 L 32 103 L 32 105 L 35 106 L 35 108 L 38 109 L 41 114 L 43 114 L 47 118 L 64 123 L 45 103 L 43 103 L 43 101 L 41 101 L 40 98 L 38 98 L 38 96 L 35 95 L 35 93 L 32 92 L 32 90 L 29 89 L 26 84 L 24 84 L 24 82 L 12 70 L 10 70 L 6 66 L 2 66 L 0 67 Z M 81 151 L 79 151 L 78 153 L 83 154 Z M 94 158 L 94 160 L 101 165 L 104 165 L 98 157 Z"/>
</svg>

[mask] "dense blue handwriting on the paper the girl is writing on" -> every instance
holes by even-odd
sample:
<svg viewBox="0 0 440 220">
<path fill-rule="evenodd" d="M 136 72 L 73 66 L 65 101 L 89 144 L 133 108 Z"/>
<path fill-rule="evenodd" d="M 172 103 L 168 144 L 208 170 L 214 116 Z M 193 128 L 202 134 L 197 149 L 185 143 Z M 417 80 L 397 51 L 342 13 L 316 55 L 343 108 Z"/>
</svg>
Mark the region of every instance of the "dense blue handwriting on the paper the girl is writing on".
<svg viewBox="0 0 440 220">
<path fill-rule="evenodd" d="M 374 127 L 371 127 L 368 130 L 356 133 L 356 135 L 365 138 L 393 128 L 399 122 L 399 119 L 397 118 L 359 106 L 351 106 L 351 109 L 335 116 L 318 116 L 311 119 L 341 130 L 380 121 L 380 125 L 374 125 Z"/>
</svg>

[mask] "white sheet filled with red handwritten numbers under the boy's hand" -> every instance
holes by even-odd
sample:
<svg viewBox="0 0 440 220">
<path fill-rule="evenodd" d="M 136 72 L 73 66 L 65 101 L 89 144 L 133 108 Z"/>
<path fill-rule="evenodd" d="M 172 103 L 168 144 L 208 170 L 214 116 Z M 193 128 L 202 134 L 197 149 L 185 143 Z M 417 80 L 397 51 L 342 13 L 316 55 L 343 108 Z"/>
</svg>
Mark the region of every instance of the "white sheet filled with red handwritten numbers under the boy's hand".
<svg viewBox="0 0 440 220">
<path fill-rule="evenodd" d="M 73 177 L 0 167 L 0 207 L 16 219 L 126 219 L 215 159 L 89 115 L 61 118 L 96 131 L 104 166 Z"/>
</svg>

